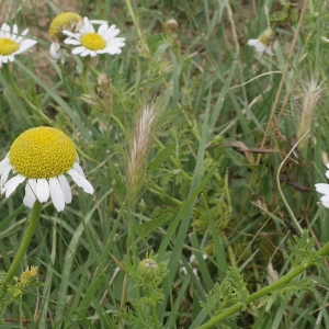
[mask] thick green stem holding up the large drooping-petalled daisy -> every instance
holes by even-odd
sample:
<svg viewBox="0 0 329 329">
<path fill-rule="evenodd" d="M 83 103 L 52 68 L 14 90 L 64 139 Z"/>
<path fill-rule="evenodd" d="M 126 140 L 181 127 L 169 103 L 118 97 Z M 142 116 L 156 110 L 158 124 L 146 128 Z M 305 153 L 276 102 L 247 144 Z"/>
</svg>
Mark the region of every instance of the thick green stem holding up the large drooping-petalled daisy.
<svg viewBox="0 0 329 329">
<path fill-rule="evenodd" d="M 24 232 L 22 242 L 19 247 L 19 250 L 16 251 L 16 254 L 15 254 L 15 257 L 14 257 L 14 259 L 13 259 L 9 270 L 8 270 L 7 276 L 5 276 L 5 279 L 2 283 L 3 287 L 4 287 L 4 285 L 11 283 L 11 281 L 13 280 L 20 264 L 22 263 L 22 259 L 23 259 L 24 254 L 26 253 L 26 250 L 29 248 L 31 239 L 32 239 L 32 237 L 35 232 L 36 226 L 38 224 L 42 207 L 43 207 L 42 204 L 36 200 L 35 203 L 34 203 L 34 206 L 32 208 L 29 225 L 27 225 L 27 228 Z M 5 287 L 4 287 L 4 291 L 5 291 Z"/>
</svg>

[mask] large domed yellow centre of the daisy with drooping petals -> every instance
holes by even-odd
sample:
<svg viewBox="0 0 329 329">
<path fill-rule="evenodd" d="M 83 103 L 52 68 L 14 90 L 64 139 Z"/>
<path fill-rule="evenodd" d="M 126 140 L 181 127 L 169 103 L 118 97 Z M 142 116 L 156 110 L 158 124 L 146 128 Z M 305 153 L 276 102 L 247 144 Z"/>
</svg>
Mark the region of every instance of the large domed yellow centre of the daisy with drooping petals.
<svg viewBox="0 0 329 329">
<path fill-rule="evenodd" d="M 77 160 L 72 140 L 52 127 L 32 128 L 12 144 L 9 160 L 27 179 L 49 179 L 68 172 Z"/>
</svg>

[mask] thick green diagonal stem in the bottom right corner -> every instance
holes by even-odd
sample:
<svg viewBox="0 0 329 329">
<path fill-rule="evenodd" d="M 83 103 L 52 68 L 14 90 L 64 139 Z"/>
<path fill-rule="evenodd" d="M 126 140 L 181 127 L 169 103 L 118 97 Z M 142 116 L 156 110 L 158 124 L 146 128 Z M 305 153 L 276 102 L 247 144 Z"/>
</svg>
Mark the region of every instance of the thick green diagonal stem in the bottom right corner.
<svg viewBox="0 0 329 329">
<path fill-rule="evenodd" d="M 329 254 L 329 242 L 327 242 L 319 251 L 317 251 L 317 253 L 315 254 L 316 257 L 320 256 L 320 257 L 325 257 Z M 272 284 L 263 287 L 262 290 L 253 293 L 252 295 L 250 295 L 247 300 L 246 304 L 250 304 L 251 302 L 259 299 L 260 297 L 263 297 L 265 295 L 268 295 L 269 293 L 280 288 L 281 286 L 285 285 L 286 283 L 288 283 L 290 281 L 292 281 L 293 279 L 295 279 L 296 276 L 298 276 L 300 273 L 303 273 L 304 271 L 306 271 L 308 268 L 310 268 L 314 263 L 309 260 L 304 261 L 300 265 L 294 268 L 291 272 L 288 272 L 287 274 L 285 274 L 284 276 L 282 276 L 281 279 L 279 279 L 277 281 L 273 282 Z M 207 328 L 213 328 L 216 324 L 220 322 L 222 320 L 226 319 L 227 317 L 238 313 L 239 310 L 242 309 L 242 307 L 246 305 L 242 303 L 236 304 L 229 308 L 227 308 L 226 310 L 224 310 L 223 313 L 220 313 L 219 315 L 211 318 L 207 322 L 205 322 L 204 325 L 200 326 L 198 329 L 207 329 Z"/>
</svg>

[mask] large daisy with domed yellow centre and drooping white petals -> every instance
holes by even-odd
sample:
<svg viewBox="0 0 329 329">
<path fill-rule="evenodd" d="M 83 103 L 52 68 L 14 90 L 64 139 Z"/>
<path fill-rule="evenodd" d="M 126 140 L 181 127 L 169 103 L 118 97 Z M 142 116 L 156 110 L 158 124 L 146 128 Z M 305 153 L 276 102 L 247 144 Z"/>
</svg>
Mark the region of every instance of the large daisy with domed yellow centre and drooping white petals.
<svg viewBox="0 0 329 329">
<path fill-rule="evenodd" d="M 12 171 L 15 175 L 8 180 Z M 52 127 L 32 128 L 21 134 L 9 154 L 0 162 L 0 193 L 9 197 L 26 181 L 23 203 L 32 208 L 36 198 L 41 203 L 49 196 L 58 212 L 72 201 L 72 192 L 65 174 L 69 174 L 86 193 L 94 190 L 84 178 L 71 139 Z"/>
</svg>

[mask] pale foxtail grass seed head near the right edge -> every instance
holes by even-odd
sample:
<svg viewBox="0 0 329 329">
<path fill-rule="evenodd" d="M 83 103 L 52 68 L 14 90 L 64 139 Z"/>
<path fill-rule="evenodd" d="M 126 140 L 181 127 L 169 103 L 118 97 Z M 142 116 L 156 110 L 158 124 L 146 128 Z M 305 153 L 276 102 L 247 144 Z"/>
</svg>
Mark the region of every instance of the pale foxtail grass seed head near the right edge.
<svg viewBox="0 0 329 329">
<path fill-rule="evenodd" d="M 302 101 L 299 103 L 296 137 L 299 140 L 310 128 L 315 117 L 316 109 L 321 99 L 322 89 L 314 79 L 310 79 L 303 89 Z M 298 150 L 302 151 L 308 138 L 299 140 Z"/>
</svg>

